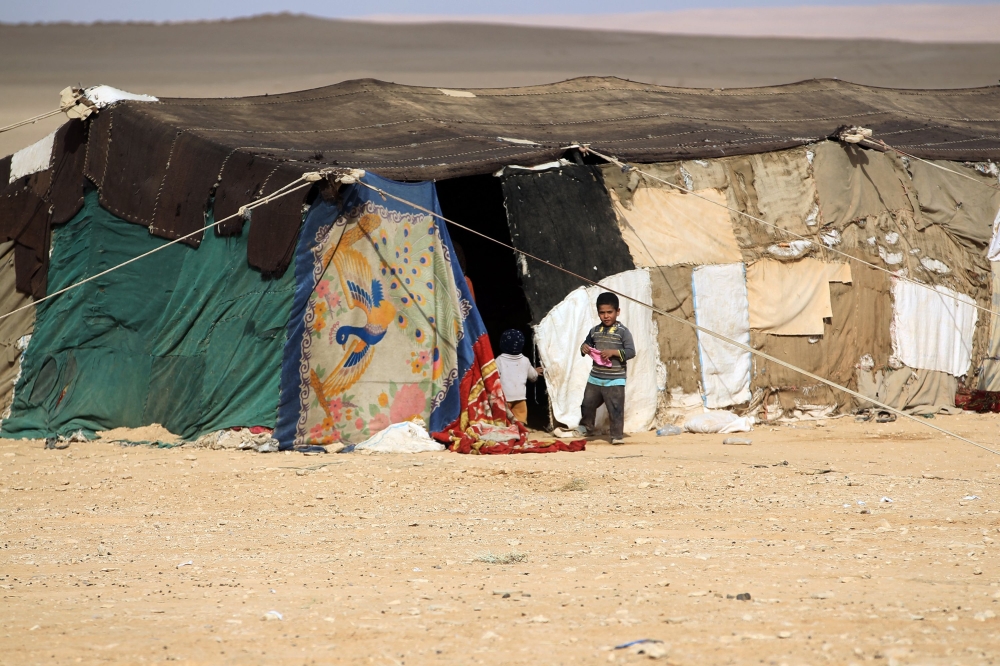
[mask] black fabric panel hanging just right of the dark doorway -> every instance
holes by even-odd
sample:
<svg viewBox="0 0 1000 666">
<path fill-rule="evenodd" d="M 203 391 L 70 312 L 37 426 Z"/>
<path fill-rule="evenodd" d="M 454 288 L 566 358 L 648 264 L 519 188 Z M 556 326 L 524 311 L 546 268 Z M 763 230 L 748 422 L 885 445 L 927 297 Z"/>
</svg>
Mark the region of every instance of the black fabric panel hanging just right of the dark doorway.
<svg viewBox="0 0 1000 666">
<path fill-rule="evenodd" d="M 635 268 L 618 230 L 600 169 L 568 166 L 502 178 L 514 246 L 594 281 Z M 579 278 L 533 259 L 521 273 L 532 322 L 577 287 Z"/>
</svg>

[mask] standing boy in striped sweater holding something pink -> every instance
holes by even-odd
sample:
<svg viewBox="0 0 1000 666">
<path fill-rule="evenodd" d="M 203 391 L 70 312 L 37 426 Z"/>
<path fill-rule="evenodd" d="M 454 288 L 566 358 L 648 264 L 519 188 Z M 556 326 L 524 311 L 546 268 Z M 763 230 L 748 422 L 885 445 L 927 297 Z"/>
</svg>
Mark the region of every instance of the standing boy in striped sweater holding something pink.
<svg viewBox="0 0 1000 666">
<path fill-rule="evenodd" d="M 606 291 L 597 297 L 601 323 L 590 329 L 580 347 L 580 354 L 594 359 L 594 367 L 580 405 L 583 418 L 577 426 L 581 435 L 593 430 L 597 408 L 604 404 L 611 420 L 611 443 L 616 445 L 625 443 L 625 371 L 628 360 L 635 358 L 635 343 L 629 330 L 618 322 L 620 313 L 618 296 Z"/>
</svg>

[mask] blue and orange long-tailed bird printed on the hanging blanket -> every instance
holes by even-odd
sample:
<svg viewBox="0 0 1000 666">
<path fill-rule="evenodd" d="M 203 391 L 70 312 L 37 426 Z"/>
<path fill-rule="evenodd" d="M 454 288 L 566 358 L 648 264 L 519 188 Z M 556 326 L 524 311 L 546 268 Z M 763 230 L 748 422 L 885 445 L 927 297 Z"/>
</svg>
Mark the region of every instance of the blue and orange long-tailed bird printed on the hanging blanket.
<svg viewBox="0 0 1000 666">
<path fill-rule="evenodd" d="M 320 380 L 315 370 L 309 370 L 309 383 L 327 416 L 331 416 L 330 400 L 347 391 L 365 373 L 375 353 L 375 345 L 385 337 L 389 325 L 396 318 L 396 307 L 386 298 L 382 282 L 372 276 L 368 261 L 352 247 L 368 237 L 381 222 L 378 215 L 363 215 L 357 226 L 345 231 L 340 242 L 323 254 L 325 265 L 333 263 L 348 306 L 363 310 L 366 315 L 364 326 L 341 326 L 337 329 L 336 341 L 345 346 L 345 353 L 325 379 Z"/>
</svg>

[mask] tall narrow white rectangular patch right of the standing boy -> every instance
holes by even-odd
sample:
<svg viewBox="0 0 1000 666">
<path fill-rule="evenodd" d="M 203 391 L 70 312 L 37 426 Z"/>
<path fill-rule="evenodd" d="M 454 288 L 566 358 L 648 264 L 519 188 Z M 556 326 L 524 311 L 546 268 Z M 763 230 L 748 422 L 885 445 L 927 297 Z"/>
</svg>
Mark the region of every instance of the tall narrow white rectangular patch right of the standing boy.
<svg viewBox="0 0 1000 666">
<path fill-rule="evenodd" d="M 750 344 L 750 305 L 743 264 L 698 266 L 691 273 L 695 322 Z M 709 409 L 750 400 L 750 352 L 698 331 L 701 385 Z"/>
</svg>

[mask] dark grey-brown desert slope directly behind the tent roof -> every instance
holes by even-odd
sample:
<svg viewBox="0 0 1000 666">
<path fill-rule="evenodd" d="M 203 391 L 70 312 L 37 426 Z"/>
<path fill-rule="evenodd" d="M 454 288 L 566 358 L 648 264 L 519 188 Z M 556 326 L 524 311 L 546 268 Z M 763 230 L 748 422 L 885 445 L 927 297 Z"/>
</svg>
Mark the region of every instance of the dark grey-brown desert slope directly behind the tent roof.
<svg viewBox="0 0 1000 666">
<path fill-rule="evenodd" d="M 858 25 L 866 25 L 863 12 L 870 10 L 845 11 L 861 12 Z M 991 19 L 970 30 L 998 25 L 1000 20 Z M 361 77 L 435 87 L 528 85 L 589 74 L 691 87 L 814 77 L 901 88 L 983 86 L 1000 77 L 1000 44 L 700 37 L 281 15 L 178 24 L 0 25 L 0 63 L 3 126 L 54 108 L 59 90 L 72 84 L 106 83 L 173 97 L 259 95 Z M 0 134 L 0 155 L 37 140 L 59 122 L 52 118 Z"/>
</svg>

